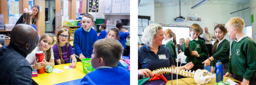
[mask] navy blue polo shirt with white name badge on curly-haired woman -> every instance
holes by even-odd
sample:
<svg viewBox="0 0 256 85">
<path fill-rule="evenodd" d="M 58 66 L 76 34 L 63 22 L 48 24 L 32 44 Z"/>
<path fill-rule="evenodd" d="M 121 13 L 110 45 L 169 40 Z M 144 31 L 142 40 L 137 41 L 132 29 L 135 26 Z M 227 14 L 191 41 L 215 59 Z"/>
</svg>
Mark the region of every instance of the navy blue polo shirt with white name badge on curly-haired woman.
<svg viewBox="0 0 256 85">
<path fill-rule="evenodd" d="M 174 66 L 174 62 L 171 52 L 167 47 L 160 45 L 157 54 L 151 51 L 147 45 L 138 48 L 138 70 L 149 69 L 153 71 L 159 68 L 171 67 L 171 65 Z M 170 74 L 163 75 L 168 81 L 171 80 Z"/>
</svg>

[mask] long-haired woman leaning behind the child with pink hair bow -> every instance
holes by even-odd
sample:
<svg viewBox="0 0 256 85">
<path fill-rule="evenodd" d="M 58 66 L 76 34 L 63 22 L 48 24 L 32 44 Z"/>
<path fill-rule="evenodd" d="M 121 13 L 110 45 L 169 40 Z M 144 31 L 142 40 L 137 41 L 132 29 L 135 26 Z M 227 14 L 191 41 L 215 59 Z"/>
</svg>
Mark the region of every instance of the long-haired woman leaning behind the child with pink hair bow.
<svg viewBox="0 0 256 85">
<path fill-rule="evenodd" d="M 40 32 L 39 32 L 40 31 L 39 30 L 39 18 L 40 18 L 39 6 L 37 4 L 35 4 L 31 10 L 33 11 L 32 24 L 36 26 L 38 37 L 41 38 Z M 23 20 L 23 16 L 24 16 L 24 14 L 22 14 L 21 17 L 18 19 L 18 21 L 16 22 L 16 25 L 25 23 Z"/>
</svg>

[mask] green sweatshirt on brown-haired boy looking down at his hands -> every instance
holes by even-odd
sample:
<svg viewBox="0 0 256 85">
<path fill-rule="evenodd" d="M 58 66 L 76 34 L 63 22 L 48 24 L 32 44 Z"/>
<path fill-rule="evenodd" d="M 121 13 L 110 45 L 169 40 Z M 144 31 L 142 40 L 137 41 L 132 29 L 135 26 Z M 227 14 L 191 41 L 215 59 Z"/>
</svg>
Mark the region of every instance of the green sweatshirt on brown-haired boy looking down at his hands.
<svg viewBox="0 0 256 85">
<path fill-rule="evenodd" d="M 195 49 L 196 48 L 196 49 Z M 192 51 L 197 51 L 199 57 L 192 55 Z M 208 50 L 203 40 L 198 39 L 189 41 L 188 48 L 185 47 L 185 42 L 183 44 L 184 54 L 187 56 L 186 62 L 189 63 L 192 61 L 194 67 L 203 67 L 204 58 L 208 56 Z"/>
</svg>

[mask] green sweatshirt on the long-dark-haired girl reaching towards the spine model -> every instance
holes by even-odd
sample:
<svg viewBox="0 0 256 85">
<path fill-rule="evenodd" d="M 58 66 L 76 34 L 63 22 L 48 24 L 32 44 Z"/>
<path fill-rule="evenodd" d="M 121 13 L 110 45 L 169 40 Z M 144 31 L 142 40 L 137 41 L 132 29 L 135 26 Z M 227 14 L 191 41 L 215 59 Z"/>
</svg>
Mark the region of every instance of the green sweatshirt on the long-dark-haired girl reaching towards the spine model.
<svg viewBox="0 0 256 85">
<path fill-rule="evenodd" d="M 214 43 L 215 45 L 215 43 Z M 224 39 L 218 46 L 217 52 L 215 54 L 212 53 L 213 58 L 218 62 L 220 61 L 222 64 L 229 62 L 229 52 L 230 52 L 230 44 L 227 39 Z M 215 66 L 216 62 L 213 60 L 211 62 L 211 66 Z"/>
</svg>

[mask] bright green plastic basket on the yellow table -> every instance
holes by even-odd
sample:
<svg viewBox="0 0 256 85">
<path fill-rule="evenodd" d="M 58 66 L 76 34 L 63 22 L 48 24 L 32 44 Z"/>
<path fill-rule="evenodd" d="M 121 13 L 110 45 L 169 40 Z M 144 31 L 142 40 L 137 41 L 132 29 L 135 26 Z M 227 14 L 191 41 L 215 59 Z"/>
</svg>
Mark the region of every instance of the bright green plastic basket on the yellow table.
<svg viewBox="0 0 256 85">
<path fill-rule="evenodd" d="M 92 68 L 92 65 L 91 65 L 91 58 L 82 59 L 82 61 L 83 61 L 84 73 L 88 74 L 88 73 L 94 71 L 94 69 Z"/>
</svg>

